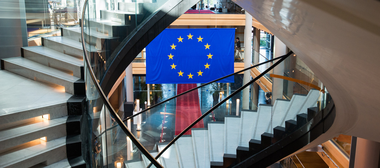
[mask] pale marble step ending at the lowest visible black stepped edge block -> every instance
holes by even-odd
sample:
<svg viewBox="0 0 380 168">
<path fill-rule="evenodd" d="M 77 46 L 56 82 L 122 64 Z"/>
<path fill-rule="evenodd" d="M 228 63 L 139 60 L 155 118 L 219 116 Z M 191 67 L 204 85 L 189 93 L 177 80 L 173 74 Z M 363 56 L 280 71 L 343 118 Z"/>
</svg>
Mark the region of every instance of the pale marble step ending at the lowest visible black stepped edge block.
<svg viewBox="0 0 380 168">
<path fill-rule="evenodd" d="M 224 154 L 224 123 L 208 123 L 209 149 L 211 166 L 223 166 Z"/>
</svg>

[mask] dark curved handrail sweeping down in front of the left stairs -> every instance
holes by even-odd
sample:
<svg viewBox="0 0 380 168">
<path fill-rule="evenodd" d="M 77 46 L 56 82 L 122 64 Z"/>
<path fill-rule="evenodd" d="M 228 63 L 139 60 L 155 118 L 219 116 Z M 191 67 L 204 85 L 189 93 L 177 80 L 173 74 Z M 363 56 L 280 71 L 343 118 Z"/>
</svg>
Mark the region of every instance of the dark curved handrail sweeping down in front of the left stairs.
<svg viewBox="0 0 380 168">
<path fill-rule="evenodd" d="M 87 4 L 88 4 L 88 0 L 86 0 L 84 2 L 82 13 L 85 13 L 85 10 L 87 8 Z M 101 99 L 103 100 L 105 106 L 109 109 L 109 113 L 115 118 L 117 124 L 120 125 L 120 127 L 122 128 L 122 130 L 125 132 L 125 134 L 127 134 L 127 136 L 136 145 L 136 147 L 141 151 L 141 153 L 144 154 L 147 157 L 147 159 L 150 161 L 151 164 L 153 164 L 157 168 L 163 168 L 163 166 L 160 165 L 160 163 L 158 163 L 158 161 L 156 159 L 154 159 L 154 157 L 142 146 L 142 144 L 136 139 L 136 137 L 132 134 L 132 132 L 130 130 L 128 130 L 127 126 L 125 126 L 124 122 L 116 114 L 115 110 L 112 108 L 111 104 L 109 103 L 106 95 L 103 93 L 103 90 L 100 88 L 100 85 L 99 85 L 97 79 L 95 78 L 95 74 L 94 74 L 94 72 L 93 72 L 93 70 L 92 70 L 92 68 L 90 66 L 91 63 L 90 63 L 88 54 L 86 52 L 86 40 L 84 40 L 84 20 L 85 20 L 84 16 L 85 15 L 83 14 L 82 15 L 82 20 L 81 20 L 82 46 L 83 46 L 83 51 L 84 51 L 85 63 L 87 65 L 87 69 L 90 72 L 91 79 L 93 80 L 93 82 L 95 84 L 95 88 L 100 93 L 99 95 L 100 95 Z"/>
</svg>

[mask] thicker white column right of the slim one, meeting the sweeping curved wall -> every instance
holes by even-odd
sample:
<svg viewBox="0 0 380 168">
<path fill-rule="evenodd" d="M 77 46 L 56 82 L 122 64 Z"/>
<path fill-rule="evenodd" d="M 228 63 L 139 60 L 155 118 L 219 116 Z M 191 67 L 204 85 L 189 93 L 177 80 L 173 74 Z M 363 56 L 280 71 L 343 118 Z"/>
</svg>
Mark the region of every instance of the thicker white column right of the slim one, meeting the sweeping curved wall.
<svg viewBox="0 0 380 168">
<path fill-rule="evenodd" d="M 280 41 L 277 37 L 274 38 L 274 58 L 280 57 L 282 55 L 286 54 L 286 45 Z M 278 60 L 274 61 L 273 63 L 277 62 Z M 273 74 L 275 75 L 281 75 L 283 76 L 284 72 L 284 63 L 278 64 L 273 69 Z M 279 78 L 273 78 L 273 84 L 272 84 L 272 104 L 274 104 L 274 101 L 276 99 L 282 99 L 282 93 L 283 93 L 283 79 Z"/>
</svg>

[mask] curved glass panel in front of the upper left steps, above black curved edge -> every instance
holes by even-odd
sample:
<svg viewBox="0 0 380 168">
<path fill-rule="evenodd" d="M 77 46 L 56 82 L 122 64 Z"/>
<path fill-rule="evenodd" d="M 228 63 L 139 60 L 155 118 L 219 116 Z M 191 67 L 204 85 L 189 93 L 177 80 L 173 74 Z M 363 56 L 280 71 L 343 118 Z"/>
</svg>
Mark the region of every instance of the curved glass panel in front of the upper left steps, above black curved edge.
<svg viewBox="0 0 380 168">
<path fill-rule="evenodd" d="M 92 69 L 102 80 L 121 48 L 168 0 L 88 1 L 84 37 Z M 74 31 L 74 30 L 71 30 Z"/>
</svg>

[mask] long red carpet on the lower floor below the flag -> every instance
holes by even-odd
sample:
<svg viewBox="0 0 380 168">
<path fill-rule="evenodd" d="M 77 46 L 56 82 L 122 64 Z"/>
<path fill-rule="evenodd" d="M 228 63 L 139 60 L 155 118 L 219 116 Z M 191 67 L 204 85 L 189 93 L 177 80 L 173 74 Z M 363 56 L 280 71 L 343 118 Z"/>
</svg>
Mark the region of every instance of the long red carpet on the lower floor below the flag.
<svg viewBox="0 0 380 168">
<path fill-rule="evenodd" d="M 177 94 L 184 93 L 196 84 L 177 84 Z M 181 133 L 186 127 L 190 126 L 196 119 L 202 115 L 199 107 L 198 90 L 177 97 L 176 104 L 176 131 L 174 135 Z M 199 121 L 192 128 L 203 128 L 203 120 Z M 190 135 L 191 130 L 188 130 L 185 135 Z"/>
</svg>

